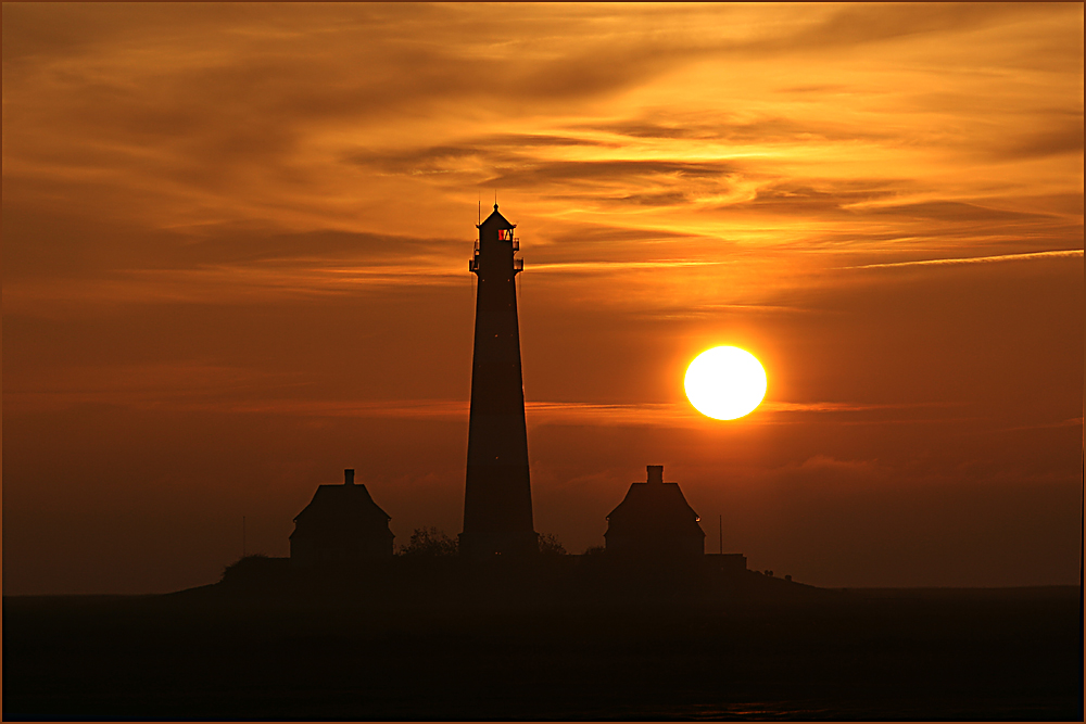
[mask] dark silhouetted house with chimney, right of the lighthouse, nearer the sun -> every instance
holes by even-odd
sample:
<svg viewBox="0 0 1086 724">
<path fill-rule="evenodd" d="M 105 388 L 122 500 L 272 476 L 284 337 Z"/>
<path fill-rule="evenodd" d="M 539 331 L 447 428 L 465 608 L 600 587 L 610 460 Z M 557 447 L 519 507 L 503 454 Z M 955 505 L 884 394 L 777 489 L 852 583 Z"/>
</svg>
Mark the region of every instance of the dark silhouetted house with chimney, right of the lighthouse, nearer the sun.
<svg viewBox="0 0 1086 724">
<path fill-rule="evenodd" d="M 607 554 L 637 559 L 696 559 L 705 554 L 700 518 L 679 483 L 664 482 L 664 466 L 648 466 L 648 481 L 633 483 L 607 516 Z"/>
</svg>

